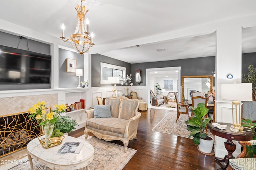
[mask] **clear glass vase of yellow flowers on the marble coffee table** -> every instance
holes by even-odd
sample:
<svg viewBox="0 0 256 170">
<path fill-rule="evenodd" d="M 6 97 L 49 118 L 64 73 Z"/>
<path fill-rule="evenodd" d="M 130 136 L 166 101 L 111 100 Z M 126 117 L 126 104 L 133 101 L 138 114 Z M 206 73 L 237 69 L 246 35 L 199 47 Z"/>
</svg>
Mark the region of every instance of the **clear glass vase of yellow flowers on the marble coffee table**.
<svg viewBox="0 0 256 170">
<path fill-rule="evenodd" d="M 30 118 L 38 122 L 37 126 L 41 126 L 45 134 L 45 143 L 50 143 L 48 140 L 52 136 L 52 131 L 54 129 L 54 123 L 60 118 L 61 114 L 66 111 L 66 106 L 54 105 L 55 109 L 50 110 L 48 113 L 48 108 L 46 107 L 46 102 L 38 102 L 28 109 L 30 113 Z"/>
</svg>

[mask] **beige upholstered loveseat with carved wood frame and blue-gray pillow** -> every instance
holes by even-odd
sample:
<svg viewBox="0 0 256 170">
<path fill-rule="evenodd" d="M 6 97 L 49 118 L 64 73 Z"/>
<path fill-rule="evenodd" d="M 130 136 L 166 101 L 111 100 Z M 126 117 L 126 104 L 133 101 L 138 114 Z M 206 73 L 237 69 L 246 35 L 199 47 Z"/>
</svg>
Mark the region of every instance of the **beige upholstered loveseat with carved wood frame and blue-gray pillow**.
<svg viewBox="0 0 256 170">
<path fill-rule="evenodd" d="M 105 141 L 120 140 L 127 150 L 129 141 L 137 139 L 138 123 L 141 113 L 138 112 L 139 100 L 125 96 L 106 98 L 106 105 L 96 105 L 86 110 L 85 139 L 88 132 Z"/>
</svg>

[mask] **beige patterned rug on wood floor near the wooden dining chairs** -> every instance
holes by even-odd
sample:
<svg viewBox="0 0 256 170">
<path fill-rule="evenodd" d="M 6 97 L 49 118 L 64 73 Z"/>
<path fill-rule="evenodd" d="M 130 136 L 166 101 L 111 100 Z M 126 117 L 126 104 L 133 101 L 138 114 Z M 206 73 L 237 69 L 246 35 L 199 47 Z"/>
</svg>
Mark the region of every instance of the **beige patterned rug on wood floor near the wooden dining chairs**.
<svg viewBox="0 0 256 170">
<path fill-rule="evenodd" d="M 188 115 L 186 114 L 180 114 L 180 117 L 175 123 L 177 119 L 177 111 L 170 111 L 166 117 L 164 117 L 153 129 L 152 131 L 158 131 L 162 133 L 168 133 L 171 135 L 176 135 L 180 137 L 186 137 L 189 136 L 189 131 L 187 130 L 187 125 L 185 124 L 185 121 L 188 120 Z M 214 135 L 210 133 L 208 130 L 208 135 L 210 137 L 213 137 L 215 139 Z M 190 137 L 191 139 L 193 137 Z"/>
</svg>

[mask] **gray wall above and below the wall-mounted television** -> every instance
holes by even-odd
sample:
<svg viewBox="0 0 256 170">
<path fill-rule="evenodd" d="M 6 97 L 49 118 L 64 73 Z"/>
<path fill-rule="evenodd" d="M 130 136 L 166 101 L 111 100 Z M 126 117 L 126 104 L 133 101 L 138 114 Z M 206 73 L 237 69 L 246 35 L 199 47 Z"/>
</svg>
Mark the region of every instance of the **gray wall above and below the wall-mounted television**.
<svg viewBox="0 0 256 170">
<path fill-rule="evenodd" d="M 50 45 L 0 31 L 0 45 L 50 55 Z M 0 84 L 0 90 L 50 88 L 50 84 Z"/>
</svg>

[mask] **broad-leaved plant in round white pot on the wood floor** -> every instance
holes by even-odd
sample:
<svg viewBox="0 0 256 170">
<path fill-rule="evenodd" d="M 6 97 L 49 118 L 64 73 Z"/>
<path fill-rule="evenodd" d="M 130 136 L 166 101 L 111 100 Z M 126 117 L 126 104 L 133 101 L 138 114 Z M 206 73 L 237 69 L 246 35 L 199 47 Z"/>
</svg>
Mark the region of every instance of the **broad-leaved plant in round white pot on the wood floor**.
<svg viewBox="0 0 256 170">
<path fill-rule="evenodd" d="M 198 145 L 198 149 L 203 153 L 211 153 L 213 146 L 213 138 L 209 137 L 206 132 L 206 127 L 212 118 L 205 118 L 209 109 L 204 104 L 200 103 L 197 107 L 192 107 L 194 114 L 190 120 L 186 121 L 187 129 L 190 131 L 188 138 L 193 136 L 193 143 Z"/>
</svg>

